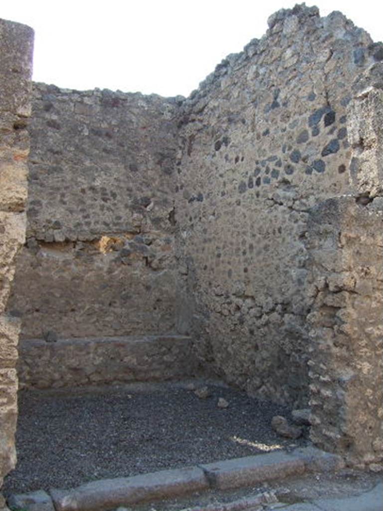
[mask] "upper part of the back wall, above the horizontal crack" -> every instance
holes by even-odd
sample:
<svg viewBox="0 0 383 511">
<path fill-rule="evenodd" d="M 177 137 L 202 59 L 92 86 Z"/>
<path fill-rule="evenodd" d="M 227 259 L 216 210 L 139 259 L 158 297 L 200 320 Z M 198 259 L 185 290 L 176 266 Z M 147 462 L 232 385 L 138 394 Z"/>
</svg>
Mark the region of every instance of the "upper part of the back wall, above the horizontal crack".
<svg viewBox="0 0 383 511">
<path fill-rule="evenodd" d="M 177 109 L 155 95 L 34 84 L 28 238 L 171 235 Z"/>
</svg>

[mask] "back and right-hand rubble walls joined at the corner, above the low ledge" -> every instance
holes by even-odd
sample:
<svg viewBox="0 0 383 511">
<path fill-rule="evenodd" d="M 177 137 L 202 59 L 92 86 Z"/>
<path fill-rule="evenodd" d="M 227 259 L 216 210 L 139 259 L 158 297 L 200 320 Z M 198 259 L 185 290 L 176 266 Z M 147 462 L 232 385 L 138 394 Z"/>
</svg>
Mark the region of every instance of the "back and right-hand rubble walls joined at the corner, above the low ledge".
<svg viewBox="0 0 383 511">
<path fill-rule="evenodd" d="M 382 60 L 341 13 L 296 6 L 186 100 L 35 84 L 25 342 L 192 334 L 227 381 L 307 404 L 311 215 L 380 193 L 380 100 L 351 100 Z"/>
</svg>

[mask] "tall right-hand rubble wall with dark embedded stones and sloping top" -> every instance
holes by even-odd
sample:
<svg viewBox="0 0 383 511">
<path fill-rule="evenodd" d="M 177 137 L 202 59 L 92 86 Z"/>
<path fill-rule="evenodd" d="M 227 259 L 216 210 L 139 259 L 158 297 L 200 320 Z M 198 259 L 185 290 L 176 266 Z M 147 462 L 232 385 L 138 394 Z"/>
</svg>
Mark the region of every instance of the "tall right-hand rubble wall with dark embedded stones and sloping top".
<svg viewBox="0 0 383 511">
<path fill-rule="evenodd" d="M 351 84 L 381 59 L 381 43 L 341 13 L 296 6 L 182 106 L 179 328 L 259 397 L 307 402 L 308 215 L 354 187 Z"/>
</svg>

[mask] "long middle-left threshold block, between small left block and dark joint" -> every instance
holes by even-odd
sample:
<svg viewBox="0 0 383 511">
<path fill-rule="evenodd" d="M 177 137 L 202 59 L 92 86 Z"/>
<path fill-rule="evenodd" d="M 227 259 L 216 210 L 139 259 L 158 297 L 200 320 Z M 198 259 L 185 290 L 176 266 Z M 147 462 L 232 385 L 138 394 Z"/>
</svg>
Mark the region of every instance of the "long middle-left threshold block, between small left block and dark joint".
<svg viewBox="0 0 383 511">
<path fill-rule="evenodd" d="M 202 469 L 190 467 L 119 479 L 103 479 L 74 490 L 51 490 L 56 511 L 102 511 L 122 504 L 177 497 L 207 490 Z"/>
</svg>

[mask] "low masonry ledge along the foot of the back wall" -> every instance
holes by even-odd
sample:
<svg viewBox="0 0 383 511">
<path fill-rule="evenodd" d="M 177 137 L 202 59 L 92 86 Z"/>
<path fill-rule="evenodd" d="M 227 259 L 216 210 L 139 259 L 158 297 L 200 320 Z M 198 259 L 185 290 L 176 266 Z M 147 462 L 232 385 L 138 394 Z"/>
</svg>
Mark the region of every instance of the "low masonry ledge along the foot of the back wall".
<svg viewBox="0 0 383 511">
<path fill-rule="evenodd" d="M 19 342 L 20 388 L 58 388 L 195 376 L 192 338 L 180 335 L 25 339 Z"/>
</svg>

